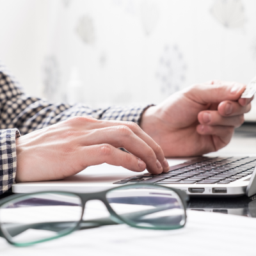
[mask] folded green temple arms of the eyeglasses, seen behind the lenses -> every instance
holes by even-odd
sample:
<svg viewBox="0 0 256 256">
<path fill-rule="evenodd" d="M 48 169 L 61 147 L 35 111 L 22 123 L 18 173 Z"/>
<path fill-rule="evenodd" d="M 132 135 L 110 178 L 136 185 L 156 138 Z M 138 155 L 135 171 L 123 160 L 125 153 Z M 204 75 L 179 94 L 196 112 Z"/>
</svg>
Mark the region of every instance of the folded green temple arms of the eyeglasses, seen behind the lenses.
<svg viewBox="0 0 256 256">
<path fill-rule="evenodd" d="M 136 218 L 141 218 L 142 216 L 145 216 L 148 214 L 153 214 L 159 211 L 163 211 L 166 209 L 170 209 L 170 205 L 164 205 L 162 207 L 158 207 L 157 209 L 149 209 L 149 210 L 140 211 L 140 212 L 122 214 L 120 215 L 120 217 L 129 218 L 132 220 Z M 83 230 L 83 229 L 95 228 L 95 227 L 106 226 L 106 225 L 117 225 L 120 223 L 122 223 L 122 221 L 120 220 L 115 221 L 111 216 L 109 216 L 106 218 L 99 218 L 95 220 L 82 220 L 79 223 L 79 227 L 77 229 Z M 58 222 L 45 222 L 45 223 L 33 223 L 33 224 L 17 224 L 17 223 L 7 224 L 6 223 L 4 224 L 4 227 L 8 229 L 8 233 L 10 234 L 10 236 L 14 237 L 28 230 L 29 228 L 59 232 L 61 230 L 65 230 L 65 227 L 70 228 L 72 224 L 74 224 L 74 221 L 58 221 Z M 1 234 L 1 230 L 0 230 L 0 236 L 4 237 L 3 234 Z"/>
</svg>

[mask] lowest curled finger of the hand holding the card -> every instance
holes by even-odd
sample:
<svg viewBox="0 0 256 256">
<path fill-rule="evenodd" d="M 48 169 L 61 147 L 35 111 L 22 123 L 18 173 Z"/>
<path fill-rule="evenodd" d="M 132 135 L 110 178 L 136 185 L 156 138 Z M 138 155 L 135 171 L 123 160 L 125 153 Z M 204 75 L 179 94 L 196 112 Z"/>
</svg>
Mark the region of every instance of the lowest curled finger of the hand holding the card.
<svg viewBox="0 0 256 256">
<path fill-rule="evenodd" d="M 199 124 L 196 131 L 201 135 L 211 135 L 216 150 L 225 147 L 234 134 L 234 127 L 232 126 L 210 126 Z"/>
</svg>

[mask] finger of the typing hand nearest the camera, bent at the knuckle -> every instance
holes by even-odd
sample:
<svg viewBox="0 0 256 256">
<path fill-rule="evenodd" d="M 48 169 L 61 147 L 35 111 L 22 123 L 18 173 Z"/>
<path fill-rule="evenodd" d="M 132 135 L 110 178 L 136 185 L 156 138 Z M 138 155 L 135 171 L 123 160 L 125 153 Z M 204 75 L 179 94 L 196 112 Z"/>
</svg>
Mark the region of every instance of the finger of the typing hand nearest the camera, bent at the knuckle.
<svg viewBox="0 0 256 256">
<path fill-rule="evenodd" d="M 81 147 L 78 156 L 79 159 L 83 159 L 83 168 L 103 163 L 122 166 L 133 172 L 143 172 L 146 168 L 146 164 L 141 159 L 109 144 Z"/>
</svg>

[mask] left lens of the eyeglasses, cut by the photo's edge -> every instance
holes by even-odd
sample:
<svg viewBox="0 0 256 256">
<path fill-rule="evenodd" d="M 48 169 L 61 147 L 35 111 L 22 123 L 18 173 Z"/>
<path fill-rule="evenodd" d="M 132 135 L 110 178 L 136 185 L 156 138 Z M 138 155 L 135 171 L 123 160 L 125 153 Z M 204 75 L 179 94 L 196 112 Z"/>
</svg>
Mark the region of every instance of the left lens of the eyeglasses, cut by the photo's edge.
<svg viewBox="0 0 256 256">
<path fill-rule="evenodd" d="M 36 193 L 14 199 L 0 209 L 1 229 L 17 245 L 67 234 L 81 219 L 83 205 L 72 193 Z"/>
</svg>

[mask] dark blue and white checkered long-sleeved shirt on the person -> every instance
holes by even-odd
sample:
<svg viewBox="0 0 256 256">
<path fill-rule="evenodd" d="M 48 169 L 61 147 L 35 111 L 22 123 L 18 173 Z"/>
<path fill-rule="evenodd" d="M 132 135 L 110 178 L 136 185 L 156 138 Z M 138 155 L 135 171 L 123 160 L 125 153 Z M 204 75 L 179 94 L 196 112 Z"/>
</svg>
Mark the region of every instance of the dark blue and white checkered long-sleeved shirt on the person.
<svg viewBox="0 0 256 256">
<path fill-rule="evenodd" d="M 150 105 L 151 106 L 151 105 Z M 25 94 L 10 72 L 0 63 L 0 195 L 15 182 L 15 138 L 72 116 L 92 116 L 101 120 L 140 123 L 149 106 L 93 109 L 84 104 L 51 103 Z"/>
</svg>

